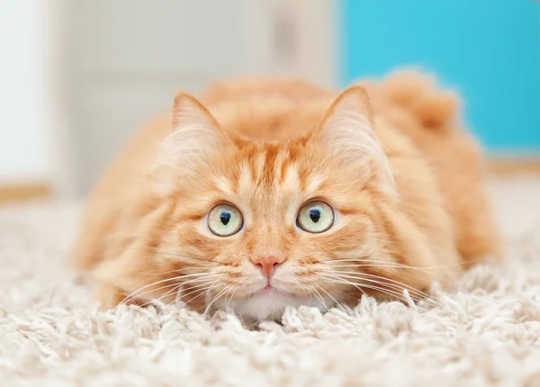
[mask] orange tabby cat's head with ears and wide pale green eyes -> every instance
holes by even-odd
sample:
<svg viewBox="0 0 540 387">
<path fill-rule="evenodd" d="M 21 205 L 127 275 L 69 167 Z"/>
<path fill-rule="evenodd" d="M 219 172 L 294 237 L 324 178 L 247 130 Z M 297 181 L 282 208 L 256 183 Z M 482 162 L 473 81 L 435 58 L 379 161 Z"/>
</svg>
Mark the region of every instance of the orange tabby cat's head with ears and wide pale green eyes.
<svg viewBox="0 0 540 387">
<path fill-rule="evenodd" d="M 397 194 L 364 89 L 324 107 L 258 108 L 214 117 L 192 96 L 176 97 L 173 130 L 149 172 L 158 205 L 133 242 L 146 261 L 138 286 L 157 283 L 141 298 L 263 320 L 369 291 L 399 297 Z M 237 125 L 279 132 L 301 121 L 295 139 L 238 135 L 248 130 Z"/>
</svg>

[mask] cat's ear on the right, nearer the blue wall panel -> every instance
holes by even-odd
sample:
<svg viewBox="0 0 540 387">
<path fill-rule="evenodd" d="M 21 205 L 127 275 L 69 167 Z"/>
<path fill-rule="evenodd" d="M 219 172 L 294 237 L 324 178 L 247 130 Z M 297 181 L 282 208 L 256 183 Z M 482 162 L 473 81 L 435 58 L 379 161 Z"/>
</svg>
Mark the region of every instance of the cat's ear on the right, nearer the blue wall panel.
<svg viewBox="0 0 540 387">
<path fill-rule="evenodd" d="M 316 138 L 339 157 L 343 166 L 374 163 L 380 181 L 394 190 L 390 162 L 374 131 L 373 111 L 362 86 L 353 86 L 340 94 L 326 113 Z"/>
</svg>

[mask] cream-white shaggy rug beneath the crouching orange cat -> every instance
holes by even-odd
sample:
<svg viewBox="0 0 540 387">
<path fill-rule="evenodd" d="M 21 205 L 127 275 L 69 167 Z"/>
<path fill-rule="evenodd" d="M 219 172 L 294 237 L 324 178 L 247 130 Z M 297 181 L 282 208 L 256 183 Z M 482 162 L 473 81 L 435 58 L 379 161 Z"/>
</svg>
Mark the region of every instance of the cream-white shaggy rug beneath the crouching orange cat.
<svg viewBox="0 0 540 387">
<path fill-rule="evenodd" d="M 435 291 L 442 307 L 364 299 L 256 330 L 224 312 L 96 312 L 92 285 L 67 266 L 79 207 L 4 207 L 0 385 L 540 386 L 540 177 L 490 189 L 508 262 Z"/>
</svg>

